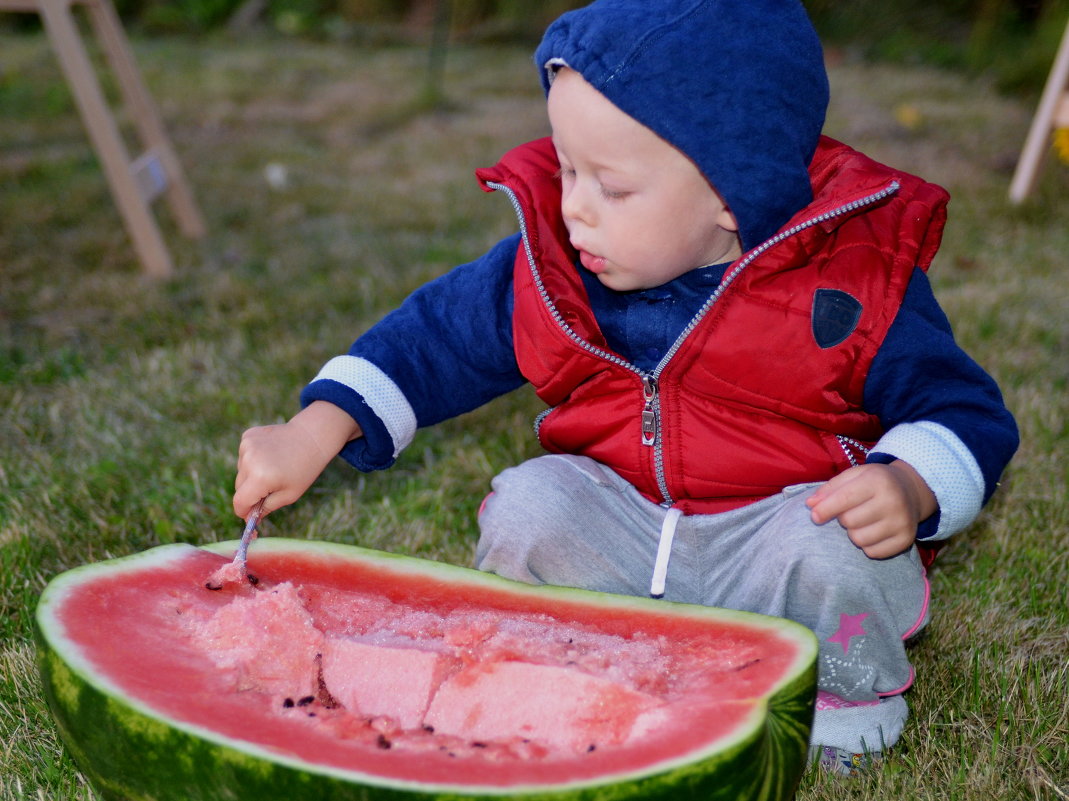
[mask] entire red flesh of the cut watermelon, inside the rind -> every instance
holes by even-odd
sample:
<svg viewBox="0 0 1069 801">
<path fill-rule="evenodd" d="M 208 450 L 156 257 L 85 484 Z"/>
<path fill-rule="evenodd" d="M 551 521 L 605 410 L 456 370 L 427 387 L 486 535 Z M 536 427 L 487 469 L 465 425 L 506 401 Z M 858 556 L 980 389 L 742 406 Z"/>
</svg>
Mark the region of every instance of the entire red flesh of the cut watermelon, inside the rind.
<svg viewBox="0 0 1069 801">
<path fill-rule="evenodd" d="M 224 558 L 191 549 L 95 581 L 58 615 L 138 703 L 399 780 L 515 786 L 671 760 L 687 731 L 735 730 L 797 647 L 567 600 L 549 616 L 506 589 L 458 598 L 448 582 L 316 554 L 264 553 L 257 587 L 206 590 Z"/>
</svg>

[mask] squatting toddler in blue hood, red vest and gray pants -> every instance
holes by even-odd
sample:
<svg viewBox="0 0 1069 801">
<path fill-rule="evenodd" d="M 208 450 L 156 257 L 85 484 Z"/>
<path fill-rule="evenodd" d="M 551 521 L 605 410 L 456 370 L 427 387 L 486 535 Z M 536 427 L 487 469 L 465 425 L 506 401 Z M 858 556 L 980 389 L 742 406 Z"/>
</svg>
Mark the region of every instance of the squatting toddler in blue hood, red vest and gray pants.
<svg viewBox="0 0 1069 801">
<path fill-rule="evenodd" d="M 520 232 L 247 431 L 234 510 L 529 382 L 548 455 L 494 479 L 478 567 L 797 620 L 814 753 L 849 771 L 902 730 L 931 546 L 1017 448 L 925 274 L 946 192 L 821 135 L 797 0 L 599 0 L 536 62 L 552 137 L 477 173 Z"/>
</svg>

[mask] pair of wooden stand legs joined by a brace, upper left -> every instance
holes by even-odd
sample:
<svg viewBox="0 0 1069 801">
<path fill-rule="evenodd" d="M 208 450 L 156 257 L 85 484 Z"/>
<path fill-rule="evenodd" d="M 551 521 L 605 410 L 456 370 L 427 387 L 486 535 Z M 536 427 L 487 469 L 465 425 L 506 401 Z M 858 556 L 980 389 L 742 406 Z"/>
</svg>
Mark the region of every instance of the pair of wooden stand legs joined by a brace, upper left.
<svg viewBox="0 0 1069 801">
<path fill-rule="evenodd" d="M 130 158 L 100 89 L 72 12 L 74 4 L 87 7 L 93 31 L 115 73 L 122 102 L 145 149 L 137 158 Z M 159 113 L 141 81 L 111 3 L 109 0 L 0 0 L 0 11 L 41 15 L 142 268 L 152 276 L 170 276 L 174 268 L 153 217 L 152 202 L 166 194 L 179 228 L 191 238 L 204 235 L 204 220 Z"/>
</svg>

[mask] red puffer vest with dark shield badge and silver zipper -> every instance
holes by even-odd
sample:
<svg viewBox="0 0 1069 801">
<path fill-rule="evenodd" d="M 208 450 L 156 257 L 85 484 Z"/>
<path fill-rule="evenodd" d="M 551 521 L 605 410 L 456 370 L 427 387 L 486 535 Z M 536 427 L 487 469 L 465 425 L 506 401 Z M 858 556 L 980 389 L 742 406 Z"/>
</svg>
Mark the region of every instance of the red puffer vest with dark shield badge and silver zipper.
<svg viewBox="0 0 1069 801">
<path fill-rule="evenodd" d="M 865 378 L 914 266 L 939 247 L 942 188 L 824 138 L 814 202 L 728 268 L 644 373 L 598 328 L 558 169 L 543 139 L 477 173 L 520 216 L 515 350 L 551 406 L 539 425 L 547 450 L 595 459 L 685 513 L 733 509 L 863 460 L 882 433 L 863 407 Z"/>
</svg>

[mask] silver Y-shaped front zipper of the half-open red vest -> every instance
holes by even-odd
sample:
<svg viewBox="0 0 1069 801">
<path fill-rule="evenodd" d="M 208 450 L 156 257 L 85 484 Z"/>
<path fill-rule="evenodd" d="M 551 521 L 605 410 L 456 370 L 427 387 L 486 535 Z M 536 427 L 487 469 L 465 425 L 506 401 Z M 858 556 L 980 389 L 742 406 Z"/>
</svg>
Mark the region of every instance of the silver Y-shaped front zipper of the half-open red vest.
<svg viewBox="0 0 1069 801">
<path fill-rule="evenodd" d="M 615 353 L 610 353 L 591 344 L 572 330 L 572 327 L 564 321 L 560 312 L 557 310 L 556 305 L 553 303 L 553 298 L 549 297 L 549 293 L 545 289 L 545 284 L 542 282 L 542 276 L 539 274 L 538 265 L 534 262 L 534 252 L 531 250 L 530 241 L 527 237 L 527 217 L 524 213 L 523 204 L 520 202 L 520 198 L 516 196 L 515 191 L 505 184 L 487 181 L 486 186 L 491 189 L 503 191 L 509 198 L 509 202 L 512 203 L 512 209 L 516 213 L 516 219 L 520 221 L 520 233 L 523 237 L 524 252 L 527 256 L 527 264 L 530 266 L 531 276 L 534 279 L 534 287 L 538 290 L 539 296 L 542 298 L 542 303 L 549 311 L 549 315 L 553 318 L 560 330 L 588 353 L 599 356 L 606 361 L 611 361 L 614 365 L 631 370 L 642 380 L 641 443 L 642 445 L 653 448 L 653 466 L 657 479 L 657 490 L 664 498 L 661 506 L 668 508 L 673 506 L 676 500 L 672 497 L 671 492 L 668 490 L 668 480 L 665 475 L 664 445 L 661 440 L 661 392 L 659 389 L 661 373 L 664 372 L 668 363 L 671 361 L 672 357 L 679 352 L 679 349 L 683 346 L 683 342 L 691 335 L 691 333 L 698 327 L 698 324 L 704 319 L 706 314 L 709 313 L 709 310 L 713 308 L 727 289 L 734 283 L 735 279 L 754 262 L 755 259 L 757 259 L 757 257 L 761 256 L 775 245 L 778 245 L 784 240 L 788 240 L 807 228 L 812 228 L 814 226 L 819 226 L 821 222 L 826 222 L 827 220 L 835 219 L 836 217 L 841 217 L 845 214 L 849 214 L 850 212 L 856 211 L 863 206 L 879 202 L 889 195 L 894 195 L 898 191 L 900 184 L 897 181 L 892 180 L 882 189 L 878 189 L 877 191 L 856 200 L 851 200 L 849 203 L 843 203 L 842 205 L 824 212 L 823 214 L 818 214 L 816 217 L 810 217 L 809 219 L 803 220 L 795 226 L 791 226 L 785 231 L 780 231 L 772 238 L 765 240 L 763 243 L 746 253 L 746 256 L 735 262 L 735 265 L 728 271 L 727 274 L 725 274 L 719 286 L 713 290 L 706 303 L 691 319 L 691 322 L 686 324 L 680 335 L 676 338 L 676 341 L 672 342 L 668 352 L 650 372 L 641 370 L 639 367 L 617 356 Z M 542 419 L 551 411 L 553 410 L 546 410 L 539 415 L 536 420 L 537 427 L 541 425 Z"/>
</svg>

